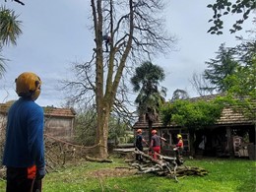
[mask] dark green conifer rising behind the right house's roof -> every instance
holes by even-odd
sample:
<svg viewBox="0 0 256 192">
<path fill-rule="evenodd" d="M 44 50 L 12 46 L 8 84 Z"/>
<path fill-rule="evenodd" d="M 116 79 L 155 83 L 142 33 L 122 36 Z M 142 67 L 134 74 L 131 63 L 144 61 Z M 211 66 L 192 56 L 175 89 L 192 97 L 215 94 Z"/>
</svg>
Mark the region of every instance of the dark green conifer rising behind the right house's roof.
<svg viewBox="0 0 256 192">
<path fill-rule="evenodd" d="M 228 89 L 228 84 L 224 82 L 224 78 L 232 75 L 237 66 L 237 61 L 233 58 L 234 51 L 230 48 L 225 48 L 222 44 L 217 52 L 216 59 L 206 62 L 208 69 L 203 73 L 203 77 L 210 82 L 212 87 L 202 88 L 209 92 L 217 91 L 224 93 Z"/>
</svg>

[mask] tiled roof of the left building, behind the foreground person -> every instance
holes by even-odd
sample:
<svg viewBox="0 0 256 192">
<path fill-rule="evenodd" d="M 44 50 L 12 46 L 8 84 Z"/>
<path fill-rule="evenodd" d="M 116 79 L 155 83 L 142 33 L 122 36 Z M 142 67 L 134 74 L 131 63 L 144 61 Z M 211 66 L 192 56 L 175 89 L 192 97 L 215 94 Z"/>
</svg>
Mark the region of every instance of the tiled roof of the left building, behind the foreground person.
<svg viewBox="0 0 256 192">
<path fill-rule="evenodd" d="M 0 113 L 7 114 L 11 103 L 0 103 Z M 52 106 L 42 107 L 45 116 L 58 116 L 58 117 L 75 117 L 76 112 L 73 108 L 56 108 Z"/>
</svg>

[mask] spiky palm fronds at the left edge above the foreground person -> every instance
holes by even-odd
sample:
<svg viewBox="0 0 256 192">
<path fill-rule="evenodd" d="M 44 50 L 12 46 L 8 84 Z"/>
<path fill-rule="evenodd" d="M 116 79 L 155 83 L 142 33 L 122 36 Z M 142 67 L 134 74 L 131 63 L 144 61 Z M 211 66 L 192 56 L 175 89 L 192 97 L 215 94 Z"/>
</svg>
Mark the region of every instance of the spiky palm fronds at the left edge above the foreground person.
<svg viewBox="0 0 256 192">
<path fill-rule="evenodd" d="M 13 10 L 4 6 L 0 7 L 0 53 L 2 47 L 8 44 L 17 44 L 17 38 L 22 33 L 21 21 L 18 20 L 19 15 L 15 15 Z M 5 72 L 5 58 L 0 55 L 0 78 Z"/>
</svg>

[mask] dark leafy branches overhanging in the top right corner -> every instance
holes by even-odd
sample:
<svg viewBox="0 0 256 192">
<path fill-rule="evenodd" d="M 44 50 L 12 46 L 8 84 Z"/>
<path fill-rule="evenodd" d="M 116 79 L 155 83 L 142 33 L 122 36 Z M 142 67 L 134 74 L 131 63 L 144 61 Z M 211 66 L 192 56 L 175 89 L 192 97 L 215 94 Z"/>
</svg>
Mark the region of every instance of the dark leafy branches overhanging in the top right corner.
<svg viewBox="0 0 256 192">
<path fill-rule="evenodd" d="M 240 15 L 240 19 L 233 24 L 229 32 L 237 32 L 242 30 L 242 24 L 245 20 L 248 19 L 249 14 L 256 9 L 255 0 L 237 0 L 237 1 L 228 1 L 228 0 L 216 0 L 216 3 L 209 4 L 208 8 L 214 11 L 213 19 L 209 20 L 210 23 L 213 23 L 213 27 L 210 28 L 208 32 L 212 34 L 223 34 L 222 30 L 224 29 L 223 16 L 228 14 Z"/>
</svg>

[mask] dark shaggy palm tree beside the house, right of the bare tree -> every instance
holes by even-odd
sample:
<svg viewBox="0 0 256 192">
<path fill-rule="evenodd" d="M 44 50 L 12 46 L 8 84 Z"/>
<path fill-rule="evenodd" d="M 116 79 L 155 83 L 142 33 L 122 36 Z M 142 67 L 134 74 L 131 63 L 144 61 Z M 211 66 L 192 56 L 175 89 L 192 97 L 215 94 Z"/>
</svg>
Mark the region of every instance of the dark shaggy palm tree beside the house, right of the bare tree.
<svg viewBox="0 0 256 192">
<path fill-rule="evenodd" d="M 163 69 L 149 61 L 137 67 L 134 76 L 131 78 L 133 91 L 139 93 L 135 99 L 139 116 L 146 115 L 148 120 L 149 137 L 151 136 L 153 122 L 158 119 L 160 106 L 164 102 L 166 89 L 160 87 L 160 82 L 164 78 Z"/>
</svg>

